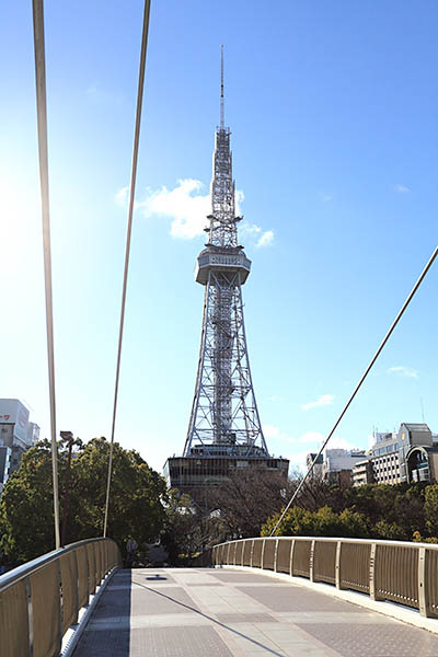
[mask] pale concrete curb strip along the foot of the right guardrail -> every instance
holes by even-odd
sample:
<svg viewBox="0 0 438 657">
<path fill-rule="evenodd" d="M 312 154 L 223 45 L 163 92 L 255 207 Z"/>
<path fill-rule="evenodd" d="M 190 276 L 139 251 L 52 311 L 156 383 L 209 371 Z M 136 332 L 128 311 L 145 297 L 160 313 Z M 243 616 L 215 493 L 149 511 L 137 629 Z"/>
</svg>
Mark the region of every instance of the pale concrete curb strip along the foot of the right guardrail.
<svg viewBox="0 0 438 657">
<path fill-rule="evenodd" d="M 331 586 L 330 584 L 324 584 L 323 581 L 309 581 L 303 577 L 292 577 L 290 575 L 287 575 L 286 573 L 263 570 L 262 568 L 255 568 L 251 566 L 223 565 L 215 566 L 215 568 L 231 568 L 233 570 L 246 570 L 247 573 L 257 573 L 260 575 L 266 575 L 267 577 L 272 577 L 275 579 L 283 579 L 288 584 L 302 586 L 307 589 L 311 589 L 313 591 L 331 596 L 332 598 L 338 598 L 339 600 L 351 602 L 353 604 L 364 607 L 369 611 L 377 611 L 378 613 L 390 616 L 397 621 L 402 621 L 403 623 L 407 623 L 408 625 L 414 625 L 415 627 L 420 627 L 422 630 L 428 630 L 428 632 L 438 634 L 438 619 L 429 619 L 422 616 L 419 614 L 419 611 L 416 611 L 415 609 L 411 609 L 408 607 L 404 607 L 403 604 L 397 604 L 396 602 L 391 602 L 389 600 L 385 602 L 371 600 L 367 593 L 359 593 L 356 591 L 337 589 L 334 586 Z"/>
</svg>

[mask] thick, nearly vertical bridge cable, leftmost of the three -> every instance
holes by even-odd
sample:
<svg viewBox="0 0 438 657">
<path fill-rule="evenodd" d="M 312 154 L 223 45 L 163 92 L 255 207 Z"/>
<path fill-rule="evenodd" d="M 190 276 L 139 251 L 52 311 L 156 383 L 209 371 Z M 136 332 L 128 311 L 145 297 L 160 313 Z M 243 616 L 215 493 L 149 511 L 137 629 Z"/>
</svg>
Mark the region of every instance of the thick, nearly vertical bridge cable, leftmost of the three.
<svg viewBox="0 0 438 657">
<path fill-rule="evenodd" d="M 38 124 L 39 184 L 42 195 L 44 280 L 46 292 L 46 327 L 48 380 L 50 396 L 51 469 L 54 483 L 55 546 L 60 548 L 59 496 L 58 496 L 58 449 L 56 445 L 56 402 L 55 402 L 55 353 L 54 353 L 54 310 L 51 296 L 51 252 L 50 252 L 50 208 L 48 192 L 47 154 L 47 103 L 46 103 L 46 57 L 44 47 L 43 0 L 33 0 L 36 113 Z"/>
</svg>

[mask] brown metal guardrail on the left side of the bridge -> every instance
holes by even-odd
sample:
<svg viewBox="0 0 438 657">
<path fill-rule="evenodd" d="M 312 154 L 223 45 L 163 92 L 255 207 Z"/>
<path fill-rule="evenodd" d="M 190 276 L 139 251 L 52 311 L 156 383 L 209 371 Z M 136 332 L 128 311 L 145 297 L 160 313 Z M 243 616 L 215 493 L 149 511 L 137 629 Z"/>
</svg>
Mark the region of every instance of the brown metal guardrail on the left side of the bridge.
<svg viewBox="0 0 438 657">
<path fill-rule="evenodd" d="M 2 657 L 56 657 L 79 610 L 122 564 L 111 539 L 89 539 L 44 554 L 0 577 Z"/>
</svg>

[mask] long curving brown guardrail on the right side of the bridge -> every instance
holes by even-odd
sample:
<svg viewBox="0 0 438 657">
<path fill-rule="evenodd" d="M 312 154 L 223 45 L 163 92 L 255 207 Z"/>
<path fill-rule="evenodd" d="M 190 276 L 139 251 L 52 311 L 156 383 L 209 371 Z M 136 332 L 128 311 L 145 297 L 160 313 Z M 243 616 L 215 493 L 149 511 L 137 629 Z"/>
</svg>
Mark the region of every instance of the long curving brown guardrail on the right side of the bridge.
<svg viewBox="0 0 438 657">
<path fill-rule="evenodd" d="M 438 618 L 438 544 L 311 537 L 242 539 L 216 545 L 212 562 L 307 577 Z"/>
</svg>

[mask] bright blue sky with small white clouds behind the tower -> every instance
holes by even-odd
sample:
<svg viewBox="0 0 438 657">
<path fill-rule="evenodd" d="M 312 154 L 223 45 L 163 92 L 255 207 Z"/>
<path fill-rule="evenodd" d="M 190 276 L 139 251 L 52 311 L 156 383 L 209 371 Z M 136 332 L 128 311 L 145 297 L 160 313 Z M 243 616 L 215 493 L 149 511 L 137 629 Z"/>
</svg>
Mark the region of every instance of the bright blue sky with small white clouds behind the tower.
<svg viewBox="0 0 438 657">
<path fill-rule="evenodd" d="M 110 435 L 142 3 L 45 2 L 58 429 Z M 194 283 L 219 119 L 253 261 L 244 287 L 268 447 L 330 430 L 437 244 L 436 2 L 152 2 L 116 439 L 181 453 Z M 0 24 L 0 396 L 48 435 L 31 2 Z M 435 265 L 334 445 L 438 431 Z"/>
</svg>

